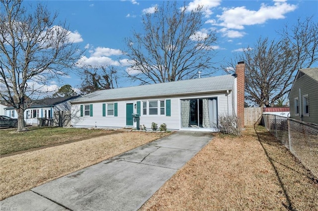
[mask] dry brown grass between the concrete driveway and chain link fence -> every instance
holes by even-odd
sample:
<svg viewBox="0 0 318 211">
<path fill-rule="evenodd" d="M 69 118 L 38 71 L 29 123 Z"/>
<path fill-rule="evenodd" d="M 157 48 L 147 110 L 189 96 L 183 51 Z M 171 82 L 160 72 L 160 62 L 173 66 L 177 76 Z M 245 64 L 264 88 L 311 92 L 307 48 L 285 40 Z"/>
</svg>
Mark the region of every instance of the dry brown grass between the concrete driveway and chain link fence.
<svg viewBox="0 0 318 211">
<path fill-rule="evenodd" d="M 218 135 L 141 208 L 318 210 L 318 184 L 267 131 Z"/>
</svg>

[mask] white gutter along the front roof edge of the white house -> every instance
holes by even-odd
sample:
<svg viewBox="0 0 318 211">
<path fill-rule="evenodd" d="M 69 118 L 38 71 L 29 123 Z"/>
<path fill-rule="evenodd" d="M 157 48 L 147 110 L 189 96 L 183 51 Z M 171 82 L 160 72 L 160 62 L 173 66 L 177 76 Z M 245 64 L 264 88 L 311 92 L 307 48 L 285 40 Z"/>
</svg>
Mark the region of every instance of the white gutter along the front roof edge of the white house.
<svg viewBox="0 0 318 211">
<path fill-rule="evenodd" d="M 167 95 L 156 95 L 156 96 L 140 96 L 140 97 L 129 97 L 129 98 L 112 98 L 112 99 L 104 99 L 104 100 L 95 100 L 95 101 L 76 101 L 71 102 L 71 104 L 82 104 L 82 103 L 98 103 L 98 102 L 106 102 L 106 101 L 114 101 L 114 100 L 136 100 L 136 99 L 152 99 L 152 98 L 163 98 L 163 97 L 171 97 L 171 96 L 189 96 L 196 94 L 211 94 L 211 93 L 227 93 L 232 89 L 223 89 L 223 90 L 214 90 L 214 91 L 199 91 L 199 92 L 187 92 L 187 93 L 177 93 L 177 94 L 167 94 Z"/>
</svg>

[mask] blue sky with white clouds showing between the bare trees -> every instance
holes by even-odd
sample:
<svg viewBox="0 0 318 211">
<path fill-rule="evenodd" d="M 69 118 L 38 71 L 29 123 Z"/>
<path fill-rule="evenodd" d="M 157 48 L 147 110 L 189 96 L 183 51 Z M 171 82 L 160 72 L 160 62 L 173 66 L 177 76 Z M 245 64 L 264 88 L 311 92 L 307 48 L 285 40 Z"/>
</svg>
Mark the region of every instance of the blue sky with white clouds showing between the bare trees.
<svg viewBox="0 0 318 211">
<path fill-rule="evenodd" d="M 30 3 L 30 1 L 26 1 Z M 34 2 L 34 1 L 33 1 Z M 59 20 L 66 20 L 71 36 L 86 49 L 81 59 L 85 64 L 114 65 L 120 72 L 119 87 L 135 86 L 124 72 L 127 66 L 124 39 L 132 30 L 139 31 L 141 16 L 153 12 L 162 1 L 153 0 L 49 0 L 51 11 L 59 13 Z M 180 6 L 183 1 L 178 1 Z M 285 24 L 292 25 L 298 18 L 314 16 L 318 21 L 317 0 L 192 0 L 185 1 L 189 8 L 201 4 L 205 8 L 205 28 L 217 30 L 216 61 L 230 59 L 242 49 L 252 46 L 262 37 L 277 39 L 277 31 Z M 224 74 L 221 70 L 215 75 Z M 51 81 L 49 89 L 70 84 L 78 91 L 81 80 L 77 74 L 62 78 L 60 84 Z"/>
</svg>

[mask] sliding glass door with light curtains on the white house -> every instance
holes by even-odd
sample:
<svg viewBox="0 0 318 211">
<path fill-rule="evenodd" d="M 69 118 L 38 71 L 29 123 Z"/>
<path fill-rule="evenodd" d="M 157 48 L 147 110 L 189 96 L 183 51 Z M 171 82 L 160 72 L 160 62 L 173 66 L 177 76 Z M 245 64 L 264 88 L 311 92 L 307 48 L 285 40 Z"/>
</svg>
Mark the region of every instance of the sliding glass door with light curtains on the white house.
<svg viewBox="0 0 318 211">
<path fill-rule="evenodd" d="M 181 100 L 181 126 L 183 128 L 216 127 L 217 114 L 217 98 Z"/>
</svg>

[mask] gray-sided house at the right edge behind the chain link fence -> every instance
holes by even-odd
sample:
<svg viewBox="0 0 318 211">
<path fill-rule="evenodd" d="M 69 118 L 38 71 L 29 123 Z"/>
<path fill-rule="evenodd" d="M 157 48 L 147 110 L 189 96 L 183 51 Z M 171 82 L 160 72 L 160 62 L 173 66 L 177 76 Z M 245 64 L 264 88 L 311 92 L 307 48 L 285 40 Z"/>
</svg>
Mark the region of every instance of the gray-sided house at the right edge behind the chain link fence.
<svg viewBox="0 0 318 211">
<path fill-rule="evenodd" d="M 318 67 L 298 70 L 289 102 L 291 118 L 318 124 Z"/>
</svg>

